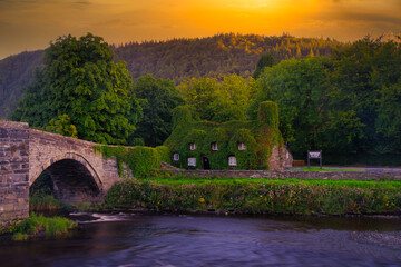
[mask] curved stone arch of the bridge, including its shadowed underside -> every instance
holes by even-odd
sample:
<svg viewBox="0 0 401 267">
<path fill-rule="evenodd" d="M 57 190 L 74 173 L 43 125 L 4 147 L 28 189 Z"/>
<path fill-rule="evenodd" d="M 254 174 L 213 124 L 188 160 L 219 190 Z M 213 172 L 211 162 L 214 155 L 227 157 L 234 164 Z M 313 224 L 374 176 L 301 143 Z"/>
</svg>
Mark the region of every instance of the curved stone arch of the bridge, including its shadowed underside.
<svg viewBox="0 0 401 267">
<path fill-rule="evenodd" d="M 32 186 L 42 172 L 50 176 L 55 196 L 61 201 L 94 202 L 104 196 L 98 172 L 79 154 L 66 152 L 51 158 L 32 176 L 29 186 Z"/>
</svg>

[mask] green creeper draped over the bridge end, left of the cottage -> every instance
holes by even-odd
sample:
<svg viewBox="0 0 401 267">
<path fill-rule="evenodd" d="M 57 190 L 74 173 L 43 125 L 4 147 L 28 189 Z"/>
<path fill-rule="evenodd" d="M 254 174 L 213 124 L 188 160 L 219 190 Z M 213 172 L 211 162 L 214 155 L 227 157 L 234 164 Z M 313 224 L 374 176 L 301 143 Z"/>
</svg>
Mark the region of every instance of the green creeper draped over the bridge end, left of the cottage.
<svg viewBox="0 0 401 267">
<path fill-rule="evenodd" d="M 120 177 L 145 177 L 150 170 L 159 169 L 162 161 L 169 162 L 169 151 L 165 146 L 151 147 L 111 147 L 95 146 L 94 149 L 102 154 L 105 158 L 116 157 L 118 175 Z M 128 169 L 125 169 L 125 166 Z"/>
</svg>

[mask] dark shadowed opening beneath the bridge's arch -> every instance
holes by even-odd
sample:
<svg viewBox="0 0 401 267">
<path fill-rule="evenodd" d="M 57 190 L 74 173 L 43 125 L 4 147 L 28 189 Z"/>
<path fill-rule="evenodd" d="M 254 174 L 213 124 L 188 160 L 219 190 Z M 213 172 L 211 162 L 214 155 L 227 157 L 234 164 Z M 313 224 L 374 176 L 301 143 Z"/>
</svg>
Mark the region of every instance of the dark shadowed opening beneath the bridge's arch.
<svg viewBox="0 0 401 267">
<path fill-rule="evenodd" d="M 65 158 L 52 162 L 30 182 L 31 187 L 43 184 L 45 178 L 48 179 L 47 185 L 51 184 L 53 196 L 62 202 L 78 204 L 101 200 L 102 190 L 96 172 L 86 161 L 84 164 L 81 161 Z"/>
</svg>

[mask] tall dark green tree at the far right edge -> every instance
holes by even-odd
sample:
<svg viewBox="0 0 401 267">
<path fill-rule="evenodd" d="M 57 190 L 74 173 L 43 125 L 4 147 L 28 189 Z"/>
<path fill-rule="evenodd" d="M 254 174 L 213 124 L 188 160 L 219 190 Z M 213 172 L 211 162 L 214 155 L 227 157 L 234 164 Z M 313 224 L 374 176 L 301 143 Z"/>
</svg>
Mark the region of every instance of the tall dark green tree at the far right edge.
<svg viewBox="0 0 401 267">
<path fill-rule="evenodd" d="M 338 115 L 352 111 L 364 125 L 353 139 L 356 151 L 400 152 L 400 42 L 365 37 L 331 58 L 330 109 Z"/>
</svg>

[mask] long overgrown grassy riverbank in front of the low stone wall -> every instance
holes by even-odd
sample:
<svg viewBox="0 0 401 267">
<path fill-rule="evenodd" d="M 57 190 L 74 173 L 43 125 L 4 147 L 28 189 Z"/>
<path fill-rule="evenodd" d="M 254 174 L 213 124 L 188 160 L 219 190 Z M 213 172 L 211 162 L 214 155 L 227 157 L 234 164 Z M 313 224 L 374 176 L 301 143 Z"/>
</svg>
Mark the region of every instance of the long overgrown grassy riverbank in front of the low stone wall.
<svg viewBox="0 0 401 267">
<path fill-rule="evenodd" d="M 106 196 L 124 208 L 248 214 L 400 214 L 401 181 L 126 179 Z"/>
</svg>

